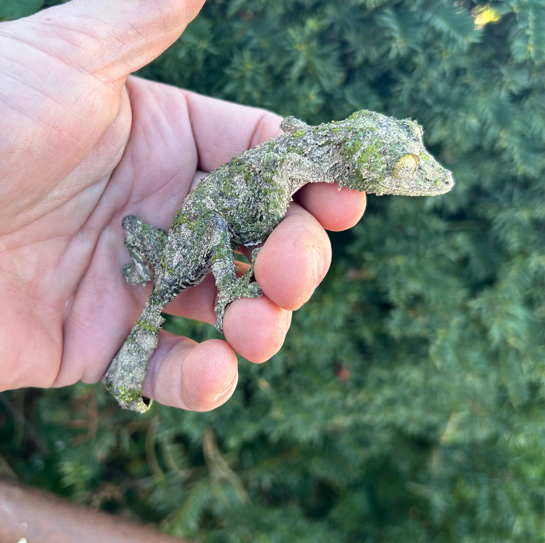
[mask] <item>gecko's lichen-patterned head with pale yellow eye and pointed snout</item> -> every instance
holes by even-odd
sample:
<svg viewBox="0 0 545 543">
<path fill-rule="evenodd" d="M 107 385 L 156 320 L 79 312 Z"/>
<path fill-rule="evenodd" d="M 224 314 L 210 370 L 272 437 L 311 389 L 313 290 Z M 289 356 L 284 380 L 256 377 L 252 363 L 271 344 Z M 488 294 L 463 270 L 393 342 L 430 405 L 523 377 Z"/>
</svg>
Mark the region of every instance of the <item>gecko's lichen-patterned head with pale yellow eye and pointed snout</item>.
<svg viewBox="0 0 545 543">
<path fill-rule="evenodd" d="M 367 111 L 346 120 L 350 119 L 352 132 L 346 143 L 347 168 L 353 168 L 350 188 L 378 195 L 435 196 L 454 186 L 451 172 L 423 146 L 419 124 Z"/>
</svg>

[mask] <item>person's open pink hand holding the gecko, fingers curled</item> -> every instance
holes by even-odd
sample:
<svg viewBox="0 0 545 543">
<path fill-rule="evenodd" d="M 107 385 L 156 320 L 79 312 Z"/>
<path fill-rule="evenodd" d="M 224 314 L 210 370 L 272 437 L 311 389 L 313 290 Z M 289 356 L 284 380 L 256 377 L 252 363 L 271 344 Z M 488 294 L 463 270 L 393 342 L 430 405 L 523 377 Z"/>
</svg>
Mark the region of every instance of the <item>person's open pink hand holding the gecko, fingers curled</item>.
<svg viewBox="0 0 545 543">
<path fill-rule="evenodd" d="M 72 0 L 0 24 L 0 390 L 99 381 L 148 298 L 122 275 L 123 216 L 168 228 L 204 172 L 280 134 L 279 118 L 136 77 L 204 0 Z M 264 296 L 235 300 L 226 341 L 161 331 L 144 396 L 205 411 L 237 383 L 235 351 L 262 362 L 329 267 L 324 228 L 357 222 L 365 195 L 306 185 L 256 262 Z M 214 323 L 215 285 L 175 315 Z"/>
</svg>

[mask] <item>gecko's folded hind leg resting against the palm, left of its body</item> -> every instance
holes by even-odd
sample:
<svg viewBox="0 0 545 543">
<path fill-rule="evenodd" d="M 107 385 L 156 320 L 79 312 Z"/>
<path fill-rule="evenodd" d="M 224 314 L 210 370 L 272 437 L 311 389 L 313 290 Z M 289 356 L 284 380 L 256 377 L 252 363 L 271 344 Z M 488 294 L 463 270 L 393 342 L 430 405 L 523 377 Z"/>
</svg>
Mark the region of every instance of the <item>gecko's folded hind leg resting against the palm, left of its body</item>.
<svg viewBox="0 0 545 543">
<path fill-rule="evenodd" d="M 152 279 L 152 271 L 160 263 L 167 233 L 128 215 L 123 219 L 125 245 L 131 256 L 130 264 L 123 267 L 123 275 L 131 285 L 145 285 Z"/>
</svg>

